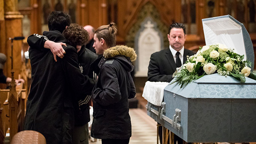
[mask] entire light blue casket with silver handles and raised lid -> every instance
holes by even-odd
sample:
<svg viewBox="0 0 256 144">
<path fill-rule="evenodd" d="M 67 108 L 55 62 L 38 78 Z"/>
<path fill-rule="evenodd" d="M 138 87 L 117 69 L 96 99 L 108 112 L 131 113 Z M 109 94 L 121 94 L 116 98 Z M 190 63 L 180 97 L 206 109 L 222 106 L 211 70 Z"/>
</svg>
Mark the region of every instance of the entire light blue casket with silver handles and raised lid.
<svg viewBox="0 0 256 144">
<path fill-rule="evenodd" d="M 226 44 L 254 66 L 250 36 L 231 16 L 203 19 L 206 45 Z M 210 74 L 184 88 L 164 88 L 161 106 L 148 103 L 148 115 L 186 142 L 256 142 L 256 80 L 240 83 Z"/>
</svg>

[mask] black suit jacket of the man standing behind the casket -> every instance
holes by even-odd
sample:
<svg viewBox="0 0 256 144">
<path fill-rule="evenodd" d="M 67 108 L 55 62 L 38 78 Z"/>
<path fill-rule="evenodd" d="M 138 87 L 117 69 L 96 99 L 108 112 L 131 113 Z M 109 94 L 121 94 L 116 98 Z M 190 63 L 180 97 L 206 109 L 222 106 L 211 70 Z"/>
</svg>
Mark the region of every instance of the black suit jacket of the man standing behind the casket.
<svg viewBox="0 0 256 144">
<path fill-rule="evenodd" d="M 191 50 L 184 49 L 183 64 L 187 56 L 194 55 Z M 170 82 L 172 74 L 176 71 L 176 63 L 170 48 L 155 52 L 150 57 L 148 65 L 148 81 L 150 82 Z"/>
</svg>

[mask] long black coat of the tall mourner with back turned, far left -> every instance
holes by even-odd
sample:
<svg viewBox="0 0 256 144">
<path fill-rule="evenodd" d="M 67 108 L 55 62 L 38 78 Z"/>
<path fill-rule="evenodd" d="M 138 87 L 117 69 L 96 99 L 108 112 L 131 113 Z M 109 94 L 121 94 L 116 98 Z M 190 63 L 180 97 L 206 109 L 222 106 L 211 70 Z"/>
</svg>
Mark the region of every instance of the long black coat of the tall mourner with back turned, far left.
<svg viewBox="0 0 256 144">
<path fill-rule="evenodd" d="M 66 42 L 58 31 L 44 32 L 54 42 Z M 38 35 L 38 37 L 40 37 Z M 33 36 L 30 37 L 33 41 Z M 37 44 L 38 39 L 34 39 Z M 31 44 L 30 42 L 28 44 Z M 30 45 L 31 46 L 31 45 Z M 94 81 L 82 75 L 76 48 L 63 46 L 64 58 L 55 62 L 49 49 L 29 48 L 32 84 L 26 106 L 24 130 L 44 135 L 47 144 L 72 143 L 74 102 L 77 93 L 89 94 Z"/>
</svg>

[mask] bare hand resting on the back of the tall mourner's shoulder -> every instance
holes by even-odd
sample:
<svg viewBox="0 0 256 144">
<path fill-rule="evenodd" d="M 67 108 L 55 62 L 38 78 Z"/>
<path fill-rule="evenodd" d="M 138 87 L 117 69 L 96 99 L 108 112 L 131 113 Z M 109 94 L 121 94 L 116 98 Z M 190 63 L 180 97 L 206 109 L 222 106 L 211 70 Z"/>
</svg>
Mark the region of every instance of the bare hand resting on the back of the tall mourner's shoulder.
<svg viewBox="0 0 256 144">
<path fill-rule="evenodd" d="M 63 42 L 56 43 L 50 40 L 46 40 L 46 42 L 44 43 L 44 48 L 49 48 L 51 50 L 55 62 L 57 62 L 56 55 L 60 58 L 63 58 L 64 54 L 66 54 L 62 46 L 67 46 L 67 45 Z"/>
</svg>

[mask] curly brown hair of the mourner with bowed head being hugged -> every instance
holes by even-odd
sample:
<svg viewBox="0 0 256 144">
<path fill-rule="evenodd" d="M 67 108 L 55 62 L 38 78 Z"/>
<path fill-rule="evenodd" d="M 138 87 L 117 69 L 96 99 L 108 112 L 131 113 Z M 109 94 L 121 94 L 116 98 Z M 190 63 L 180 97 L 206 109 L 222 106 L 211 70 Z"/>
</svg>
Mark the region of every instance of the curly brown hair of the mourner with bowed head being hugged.
<svg viewBox="0 0 256 144">
<path fill-rule="evenodd" d="M 79 24 L 70 24 L 62 34 L 72 46 L 83 46 L 89 40 L 89 33 Z"/>
</svg>

